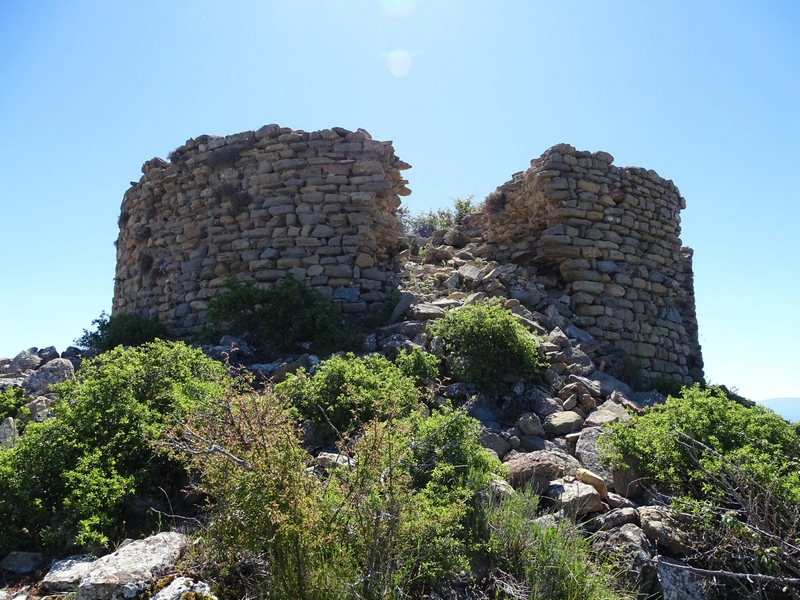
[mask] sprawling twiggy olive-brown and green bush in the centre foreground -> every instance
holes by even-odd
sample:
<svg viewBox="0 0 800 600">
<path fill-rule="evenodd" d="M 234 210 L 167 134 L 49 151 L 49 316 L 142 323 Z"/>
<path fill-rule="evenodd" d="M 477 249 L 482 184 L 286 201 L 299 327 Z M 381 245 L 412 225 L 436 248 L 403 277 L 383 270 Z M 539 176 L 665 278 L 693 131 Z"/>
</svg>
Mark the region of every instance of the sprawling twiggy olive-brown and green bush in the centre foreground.
<svg viewBox="0 0 800 600">
<path fill-rule="evenodd" d="M 469 503 L 500 467 L 463 413 L 372 419 L 342 444 L 350 465 L 317 475 L 272 393 L 221 397 L 191 432 L 176 446 L 215 499 L 204 576 L 244 563 L 256 575 L 241 595 L 275 599 L 423 597 L 468 568 Z"/>
</svg>

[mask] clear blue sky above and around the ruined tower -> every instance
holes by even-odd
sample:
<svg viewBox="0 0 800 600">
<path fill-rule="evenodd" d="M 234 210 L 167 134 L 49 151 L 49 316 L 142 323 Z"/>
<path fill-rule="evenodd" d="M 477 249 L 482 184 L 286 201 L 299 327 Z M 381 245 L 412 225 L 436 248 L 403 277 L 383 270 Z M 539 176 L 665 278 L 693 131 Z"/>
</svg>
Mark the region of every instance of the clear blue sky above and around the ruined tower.
<svg viewBox="0 0 800 600">
<path fill-rule="evenodd" d="M 686 198 L 706 373 L 800 396 L 800 3 L 0 0 L 0 356 L 109 310 L 141 164 L 268 123 L 363 127 L 412 210 L 559 142 Z"/>
</svg>

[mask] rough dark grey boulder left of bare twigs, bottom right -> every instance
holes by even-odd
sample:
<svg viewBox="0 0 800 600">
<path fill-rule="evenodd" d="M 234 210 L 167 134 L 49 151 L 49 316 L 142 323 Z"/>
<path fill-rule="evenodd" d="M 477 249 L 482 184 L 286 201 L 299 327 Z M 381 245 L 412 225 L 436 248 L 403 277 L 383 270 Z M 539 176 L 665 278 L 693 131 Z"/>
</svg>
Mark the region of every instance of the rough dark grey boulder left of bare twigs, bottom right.
<svg viewBox="0 0 800 600">
<path fill-rule="evenodd" d="M 591 538 L 592 550 L 617 563 L 625 587 L 646 597 L 656 591 L 656 566 L 651 562 L 656 547 L 639 527 L 626 523 L 619 529 L 601 531 Z"/>
</svg>

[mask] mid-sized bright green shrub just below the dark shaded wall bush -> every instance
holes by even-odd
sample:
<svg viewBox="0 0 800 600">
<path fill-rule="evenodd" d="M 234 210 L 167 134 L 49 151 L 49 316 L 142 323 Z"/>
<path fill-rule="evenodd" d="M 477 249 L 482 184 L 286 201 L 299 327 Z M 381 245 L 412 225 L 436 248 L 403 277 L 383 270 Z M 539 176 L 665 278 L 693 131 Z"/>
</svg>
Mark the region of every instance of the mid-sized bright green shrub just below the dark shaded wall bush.
<svg viewBox="0 0 800 600">
<path fill-rule="evenodd" d="M 417 402 L 414 381 L 383 356 L 333 356 L 314 375 L 289 375 L 275 386 L 323 438 L 345 435 L 373 418 L 409 413 Z M 335 429 L 335 430 L 334 430 Z"/>
</svg>

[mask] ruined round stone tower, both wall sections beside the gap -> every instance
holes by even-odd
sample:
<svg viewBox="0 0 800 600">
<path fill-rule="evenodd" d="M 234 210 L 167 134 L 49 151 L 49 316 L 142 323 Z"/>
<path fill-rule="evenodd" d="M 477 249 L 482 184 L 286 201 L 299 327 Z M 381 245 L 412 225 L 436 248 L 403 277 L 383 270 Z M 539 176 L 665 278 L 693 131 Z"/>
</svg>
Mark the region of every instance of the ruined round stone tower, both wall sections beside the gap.
<svg viewBox="0 0 800 600">
<path fill-rule="evenodd" d="M 685 200 L 655 171 L 612 163 L 554 146 L 433 241 L 524 267 L 546 292 L 538 310 L 553 306 L 650 375 L 700 380 L 692 250 L 679 237 Z M 269 286 L 287 273 L 344 313 L 382 310 L 408 256 L 397 219 L 408 168 L 391 142 L 361 129 L 267 125 L 191 139 L 169 162 L 145 162 L 125 193 L 112 314 L 139 312 L 188 335 L 228 277 Z"/>
</svg>

